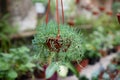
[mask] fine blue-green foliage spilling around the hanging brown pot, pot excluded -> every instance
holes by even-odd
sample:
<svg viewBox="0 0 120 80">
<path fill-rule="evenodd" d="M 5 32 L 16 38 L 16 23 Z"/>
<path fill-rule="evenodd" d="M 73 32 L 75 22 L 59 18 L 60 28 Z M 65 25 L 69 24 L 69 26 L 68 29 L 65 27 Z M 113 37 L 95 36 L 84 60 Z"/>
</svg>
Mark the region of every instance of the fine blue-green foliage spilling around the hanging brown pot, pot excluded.
<svg viewBox="0 0 120 80">
<path fill-rule="evenodd" d="M 81 33 L 76 33 L 74 29 L 70 28 L 68 25 L 60 24 L 60 38 L 64 41 L 63 43 L 65 43 L 67 39 L 71 41 L 71 45 L 66 52 L 63 52 L 62 49 L 59 53 L 51 52 L 46 46 L 46 40 L 51 37 L 56 38 L 57 35 L 58 25 L 54 21 L 49 22 L 47 25 L 44 23 L 38 26 L 36 31 L 33 46 L 41 64 L 47 64 L 49 61 L 70 62 L 82 59 L 83 37 Z"/>
</svg>

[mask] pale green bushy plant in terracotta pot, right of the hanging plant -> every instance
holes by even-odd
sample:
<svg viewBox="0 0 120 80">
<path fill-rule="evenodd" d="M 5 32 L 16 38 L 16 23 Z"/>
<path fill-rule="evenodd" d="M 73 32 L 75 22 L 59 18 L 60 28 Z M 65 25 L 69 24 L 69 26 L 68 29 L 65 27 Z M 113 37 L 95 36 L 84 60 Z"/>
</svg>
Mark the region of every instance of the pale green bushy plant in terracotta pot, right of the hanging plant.
<svg viewBox="0 0 120 80">
<path fill-rule="evenodd" d="M 95 51 L 99 51 L 102 56 L 107 55 L 107 48 L 105 47 L 106 33 L 103 27 L 96 27 L 95 30 L 90 34 L 91 44 Z M 98 53 L 98 52 L 97 52 Z"/>
</svg>

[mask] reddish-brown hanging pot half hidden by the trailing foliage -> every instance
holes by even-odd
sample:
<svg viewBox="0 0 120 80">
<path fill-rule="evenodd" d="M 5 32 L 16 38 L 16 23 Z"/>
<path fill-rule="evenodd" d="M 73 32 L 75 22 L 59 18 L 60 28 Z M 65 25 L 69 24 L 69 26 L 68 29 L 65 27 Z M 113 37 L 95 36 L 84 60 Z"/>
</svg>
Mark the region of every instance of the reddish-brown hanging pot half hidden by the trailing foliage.
<svg viewBox="0 0 120 80">
<path fill-rule="evenodd" d="M 67 43 L 63 43 L 62 39 L 58 39 L 58 38 L 48 38 L 46 41 L 46 45 L 49 48 L 50 51 L 54 51 L 59 53 L 59 51 L 66 52 L 67 49 L 70 47 L 71 41 L 66 39 Z"/>
</svg>

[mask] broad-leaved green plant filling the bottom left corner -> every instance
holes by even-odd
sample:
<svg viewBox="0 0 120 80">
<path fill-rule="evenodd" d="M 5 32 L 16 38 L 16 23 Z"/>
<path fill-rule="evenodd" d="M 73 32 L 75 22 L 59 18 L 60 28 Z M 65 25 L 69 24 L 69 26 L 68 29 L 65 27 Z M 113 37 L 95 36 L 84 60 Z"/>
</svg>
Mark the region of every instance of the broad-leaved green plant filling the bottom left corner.
<svg viewBox="0 0 120 80">
<path fill-rule="evenodd" d="M 0 64 L 0 79 L 5 80 L 32 78 L 36 66 L 26 47 L 10 49 L 9 53 L 0 53 Z"/>
</svg>

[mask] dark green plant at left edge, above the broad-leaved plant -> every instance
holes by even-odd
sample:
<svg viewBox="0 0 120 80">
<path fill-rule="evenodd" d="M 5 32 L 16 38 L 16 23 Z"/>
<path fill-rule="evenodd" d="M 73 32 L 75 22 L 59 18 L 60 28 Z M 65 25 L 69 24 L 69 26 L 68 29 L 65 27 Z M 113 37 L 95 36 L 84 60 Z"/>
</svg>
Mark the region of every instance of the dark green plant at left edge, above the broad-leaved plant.
<svg viewBox="0 0 120 80">
<path fill-rule="evenodd" d="M 13 26 L 10 25 L 8 21 L 9 15 L 6 14 L 0 19 L 0 51 L 8 52 L 11 46 L 11 35 L 16 32 L 15 28 L 11 28 Z"/>
</svg>

